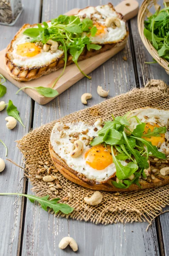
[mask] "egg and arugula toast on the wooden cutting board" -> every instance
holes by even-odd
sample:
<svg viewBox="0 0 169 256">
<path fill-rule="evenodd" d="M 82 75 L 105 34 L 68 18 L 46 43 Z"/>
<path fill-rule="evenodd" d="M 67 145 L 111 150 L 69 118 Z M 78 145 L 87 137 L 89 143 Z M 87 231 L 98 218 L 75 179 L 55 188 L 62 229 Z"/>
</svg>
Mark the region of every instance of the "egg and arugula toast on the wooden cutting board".
<svg viewBox="0 0 169 256">
<path fill-rule="evenodd" d="M 17 81 L 37 79 L 72 63 L 80 69 L 77 61 L 124 44 L 127 36 L 126 22 L 111 3 L 89 6 L 77 15 L 23 25 L 7 47 L 6 67 Z"/>
</svg>

